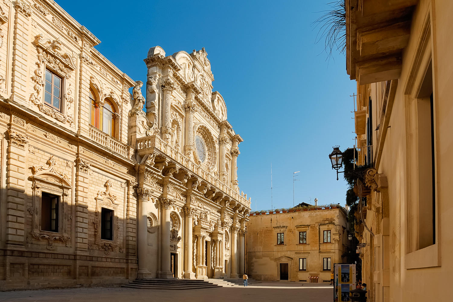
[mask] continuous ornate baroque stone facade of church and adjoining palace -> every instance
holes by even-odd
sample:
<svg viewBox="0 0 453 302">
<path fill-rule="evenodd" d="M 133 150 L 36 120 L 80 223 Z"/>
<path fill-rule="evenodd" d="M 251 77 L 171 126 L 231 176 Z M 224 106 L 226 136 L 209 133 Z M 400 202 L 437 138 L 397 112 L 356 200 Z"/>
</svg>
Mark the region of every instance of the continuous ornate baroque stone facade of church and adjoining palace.
<svg viewBox="0 0 453 302">
<path fill-rule="evenodd" d="M 251 201 L 205 49 L 150 48 L 144 85 L 99 43 L 0 1 L 0 289 L 237 278 Z"/>
</svg>

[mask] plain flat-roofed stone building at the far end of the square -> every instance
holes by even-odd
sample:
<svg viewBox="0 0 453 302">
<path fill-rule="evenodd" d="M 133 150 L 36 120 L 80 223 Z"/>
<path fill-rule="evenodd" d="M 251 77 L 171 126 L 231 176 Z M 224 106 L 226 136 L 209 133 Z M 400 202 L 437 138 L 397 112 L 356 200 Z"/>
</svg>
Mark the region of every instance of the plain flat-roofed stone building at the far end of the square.
<svg viewBox="0 0 453 302">
<path fill-rule="evenodd" d="M 334 263 L 345 263 L 347 213 L 321 207 L 251 215 L 247 273 L 266 281 L 330 283 Z"/>
</svg>

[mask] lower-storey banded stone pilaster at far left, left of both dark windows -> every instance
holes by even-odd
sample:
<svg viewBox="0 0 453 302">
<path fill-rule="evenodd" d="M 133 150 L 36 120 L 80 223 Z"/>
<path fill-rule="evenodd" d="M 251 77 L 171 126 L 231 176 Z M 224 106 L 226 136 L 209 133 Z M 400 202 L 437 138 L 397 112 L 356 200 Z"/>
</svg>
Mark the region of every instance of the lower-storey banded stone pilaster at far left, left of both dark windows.
<svg viewBox="0 0 453 302">
<path fill-rule="evenodd" d="M 12 118 L 14 120 L 14 117 Z M 22 120 L 25 126 L 25 121 Z M 6 244 L 9 249 L 25 249 L 25 183 L 28 137 L 24 129 L 8 130 L 6 149 Z M 36 209 L 37 211 L 38 209 Z M 33 215 L 33 207 L 29 208 Z M 40 214 L 40 213 L 39 213 Z"/>
</svg>

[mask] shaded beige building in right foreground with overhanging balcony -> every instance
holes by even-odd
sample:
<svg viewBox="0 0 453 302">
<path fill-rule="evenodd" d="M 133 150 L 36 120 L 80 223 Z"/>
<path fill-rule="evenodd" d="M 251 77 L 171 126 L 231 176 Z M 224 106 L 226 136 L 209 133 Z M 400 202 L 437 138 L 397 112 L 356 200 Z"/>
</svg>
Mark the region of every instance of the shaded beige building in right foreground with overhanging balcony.
<svg viewBox="0 0 453 302">
<path fill-rule="evenodd" d="M 451 301 L 451 1 L 347 0 L 368 301 Z M 361 217 L 363 216 L 363 218 Z"/>
</svg>

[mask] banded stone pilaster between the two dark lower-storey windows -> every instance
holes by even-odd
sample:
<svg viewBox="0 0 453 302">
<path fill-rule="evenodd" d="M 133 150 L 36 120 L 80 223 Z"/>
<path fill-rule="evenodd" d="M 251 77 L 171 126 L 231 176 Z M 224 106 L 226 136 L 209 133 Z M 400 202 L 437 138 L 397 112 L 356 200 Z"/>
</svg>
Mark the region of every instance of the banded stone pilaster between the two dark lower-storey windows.
<svg viewBox="0 0 453 302">
<path fill-rule="evenodd" d="M 90 187 L 91 164 L 82 158 L 76 159 L 76 251 L 88 251 L 88 188 Z"/>
</svg>

